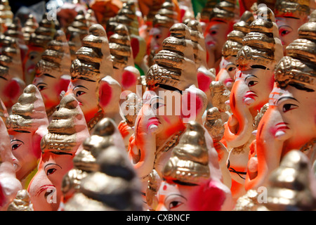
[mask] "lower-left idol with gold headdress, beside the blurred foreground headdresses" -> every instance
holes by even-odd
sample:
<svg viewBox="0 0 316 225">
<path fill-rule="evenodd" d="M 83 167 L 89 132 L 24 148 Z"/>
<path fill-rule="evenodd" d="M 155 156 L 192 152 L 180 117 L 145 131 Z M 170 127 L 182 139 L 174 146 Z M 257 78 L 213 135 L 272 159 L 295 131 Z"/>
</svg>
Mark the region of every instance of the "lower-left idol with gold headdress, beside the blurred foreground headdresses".
<svg viewBox="0 0 316 225">
<path fill-rule="evenodd" d="M 62 178 L 73 167 L 73 158 L 90 136 L 84 114 L 73 94 L 64 96 L 41 139 L 39 169 L 30 182 L 34 211 L 56 211 L 62 203 Z"/>
</svg>

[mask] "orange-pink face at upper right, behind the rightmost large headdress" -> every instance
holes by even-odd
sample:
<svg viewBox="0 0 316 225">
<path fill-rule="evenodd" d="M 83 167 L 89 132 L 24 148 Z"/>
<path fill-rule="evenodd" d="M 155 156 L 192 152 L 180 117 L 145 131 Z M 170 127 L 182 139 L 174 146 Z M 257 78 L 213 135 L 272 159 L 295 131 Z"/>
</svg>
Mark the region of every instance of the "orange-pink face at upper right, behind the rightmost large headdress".
<svg viewBox="0 0 316 225">
<path fill-rule="evenodd" d="M 276 18 L 277 27 L 279 28 L 279 39 L 282 41 L 283 51 L 285 54 L 285 48 L 291 44 L 295 39 L 298 39 L 298 28 L 305 22 L 298 18 Z"/>
</svg>

